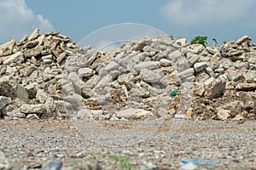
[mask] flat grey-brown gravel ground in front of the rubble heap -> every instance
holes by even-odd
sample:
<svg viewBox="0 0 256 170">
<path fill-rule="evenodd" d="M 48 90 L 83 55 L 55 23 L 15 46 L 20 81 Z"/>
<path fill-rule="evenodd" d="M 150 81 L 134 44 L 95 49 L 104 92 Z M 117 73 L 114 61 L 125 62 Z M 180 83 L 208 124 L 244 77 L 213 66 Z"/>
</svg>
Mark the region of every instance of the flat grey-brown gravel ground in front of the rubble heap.
<svg viewBox="0 0 256 170">
<path fill-rule="evenodd" d="M 102 138 L 98 124 L 92 133 L 72 122 L 0 121 L 0 150 L 13 169 L 40 169 L 49 160 L 60 160 L 62 169 L 96 164 L 121 169 L 120 163 L 127 169 L 178 169 L 181 161 L 191 159 L 218 161 L 212 169 L 256 169 L 256 122 L 175 119 L 157 128 L 120 123 L 103 127 L 108 127 L 102 128 L 108 139 Z M 132 132 L 134 140 L 120 142 L 126 135 L 122 132 Z"/>
</svg>

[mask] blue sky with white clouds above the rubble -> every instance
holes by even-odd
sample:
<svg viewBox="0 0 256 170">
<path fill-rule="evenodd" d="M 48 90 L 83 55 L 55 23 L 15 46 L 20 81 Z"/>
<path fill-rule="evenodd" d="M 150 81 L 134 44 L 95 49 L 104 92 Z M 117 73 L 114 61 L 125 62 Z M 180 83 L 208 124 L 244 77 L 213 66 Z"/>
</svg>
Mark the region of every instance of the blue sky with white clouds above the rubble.
<svg viewBox="0 0 256 170">
<path fill-rule="evenodd" d="M 138 23 L 176 38 L 207 36 L 256 40 L 255 0 L 1 0 L 0 42 L 17 41 L 35 28 L 61 31 L 75 42 L 104 26 Z"/>
</svg>

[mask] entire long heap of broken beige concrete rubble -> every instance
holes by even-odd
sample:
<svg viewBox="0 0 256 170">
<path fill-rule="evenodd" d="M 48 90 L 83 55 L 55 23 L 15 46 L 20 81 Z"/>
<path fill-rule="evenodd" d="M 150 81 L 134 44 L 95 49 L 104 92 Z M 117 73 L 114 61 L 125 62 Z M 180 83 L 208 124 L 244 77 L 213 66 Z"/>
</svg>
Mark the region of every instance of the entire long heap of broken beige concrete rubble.
<svg viewBox="0 0 256 170">
<path fill-rule="evenodd" d="M 0 46 L 3 119 L 255 120 L 256 45 L 144 37 L 110 52 L 36 29 Z"/>
</svg>

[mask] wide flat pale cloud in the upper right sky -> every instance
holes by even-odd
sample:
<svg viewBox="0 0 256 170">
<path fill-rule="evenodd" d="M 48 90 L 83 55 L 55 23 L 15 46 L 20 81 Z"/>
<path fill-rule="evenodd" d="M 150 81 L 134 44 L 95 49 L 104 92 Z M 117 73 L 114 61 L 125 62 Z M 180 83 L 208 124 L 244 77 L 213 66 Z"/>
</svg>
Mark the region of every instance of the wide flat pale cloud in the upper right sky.
<svg viewBox="0 0 256 170">
<path fill-rule="evenodd" d="M 170 0 L 160 10 L 172 24 L 203 26 L 255 17 L 255 5 L 255 0 Z"/>
</svg>

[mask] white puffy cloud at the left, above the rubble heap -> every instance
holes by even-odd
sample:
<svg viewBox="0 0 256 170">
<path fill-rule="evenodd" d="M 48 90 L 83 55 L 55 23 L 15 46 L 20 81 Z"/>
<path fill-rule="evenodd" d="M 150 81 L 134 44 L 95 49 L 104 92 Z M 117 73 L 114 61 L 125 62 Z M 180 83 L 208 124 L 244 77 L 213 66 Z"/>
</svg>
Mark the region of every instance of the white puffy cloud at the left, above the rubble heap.
<svg viewBox="0 0 256 170">
<path fill-rule="evenodd" d="M 53 31 L 54 27 L 40 14 L 34 14 L 26 6 L 25 0 L 1 0 L 0 2 L 0 42 L 12 38 L 20 40 L 24 34 L 30 34 L 39 28 L 40 32 Z"/>
</svg>

